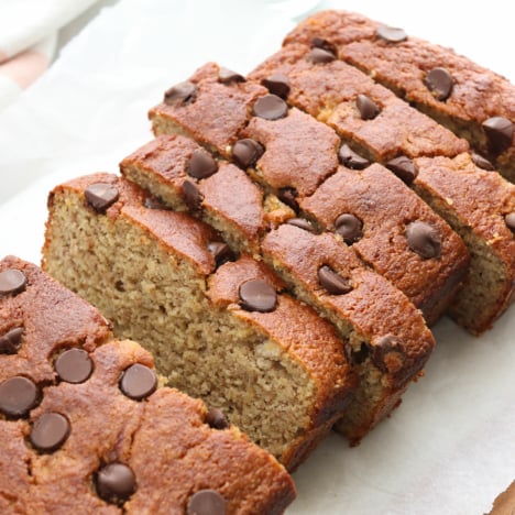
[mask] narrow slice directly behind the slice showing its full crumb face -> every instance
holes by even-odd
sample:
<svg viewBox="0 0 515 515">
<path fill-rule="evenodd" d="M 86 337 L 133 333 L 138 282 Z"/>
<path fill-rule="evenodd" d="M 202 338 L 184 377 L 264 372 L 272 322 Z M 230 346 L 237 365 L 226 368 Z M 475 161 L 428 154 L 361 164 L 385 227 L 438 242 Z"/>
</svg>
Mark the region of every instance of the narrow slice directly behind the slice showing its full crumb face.
<svg viewBox="0 0 515 515">
<path fill-rule="evenodd" d="M 121 172 L 168 207 L 178 209 L 187 208 L 184 182 L 195 182 L 202 197 L 195 216 L 217 227 L 227 241 L 235 243 L 234 252 L 246 249 L 245 243 L 240 243 L 245 237 L 259 235 L 260 259 L 286 281 L 298 298 L 331 320 L 341 337 L 350 342 L 348 352 L 361 381 L 338 428 L 357 443 L 398 404 L 402 393 L 418 377 L 430 355 L 434 340 L 420 313 L 388 281 L 366 269 L 351 248 L 331 233 L 315 234 L 315 227 L 306 219 L 292 218 L 291 208 L 287 222 L 277 227 L 270 223 L 273 210 L 267 211 L 269 218 L 249 216 L 265 212 L 263 195 L 234 165 L 218 160 L 218 169 L 208 178 L 191 178 L 188 169 L 193 153 L 205 151 L 189 146 L 188 142 L 177 134 L 158 136 L 125 157 Z M 240 171 L 232 182 L 224 179 L 228 168 Z M 273 219 L 277 222 L 280 217 Z M 243 231 L 243 221 L 252 221 L 255 229 Z M 330 294 L 320 283 L 319 271 L 325 266 L 330 266 L 351 285 L 344 294 Z M 399 359 L 387 366 L 383 358 L 388 353 L 391 340 L 397 342 L 395 352 Z"/>
</svg>

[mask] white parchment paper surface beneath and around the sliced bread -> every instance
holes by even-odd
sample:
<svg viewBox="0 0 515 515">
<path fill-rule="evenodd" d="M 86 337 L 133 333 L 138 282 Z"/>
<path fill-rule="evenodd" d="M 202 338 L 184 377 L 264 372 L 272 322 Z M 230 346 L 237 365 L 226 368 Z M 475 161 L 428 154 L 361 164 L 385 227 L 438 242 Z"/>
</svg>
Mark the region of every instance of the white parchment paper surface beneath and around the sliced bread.
<svg viewBox="0 0 515 515">
<path fill-rule="evenodd" d="M 0 113 L 0 256 L 40 261 L 46 194 L 117 172 L 151 139 L 146 111 L 207 61 L 250 72 L 309 9 L 362 12 L 515 81 L 512 2 L 121 0 Z M 426 377 L 360 447 L 337 435 L 295 474 L 288 515 L 489 512 L 515 479 L 515 309 L 481 338 L 435 328 Z"/>
</svg>

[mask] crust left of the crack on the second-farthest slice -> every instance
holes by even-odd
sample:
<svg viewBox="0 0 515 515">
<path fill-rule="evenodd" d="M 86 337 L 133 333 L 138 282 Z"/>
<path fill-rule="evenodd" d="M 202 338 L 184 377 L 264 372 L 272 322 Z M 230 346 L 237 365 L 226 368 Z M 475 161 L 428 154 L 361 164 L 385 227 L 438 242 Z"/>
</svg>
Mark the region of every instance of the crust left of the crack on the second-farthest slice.
<svg viewBox="0 0 515 515">
<path fill-rule="evenodd" d="M 325 121 L 379 161 L 398 155 L 453 156 L 468 150 L 465 140 L 398 99 L 369 75 L 337 58 L 315 63 L 311 52 L 308 45 L 287 45 L 249 77 L 261 81 L 284 75 L 289 83 L 289 103 Z M 360 95 L 377 107 L 373 119 L 362 118 L 357 107 Z"/>
</svg>

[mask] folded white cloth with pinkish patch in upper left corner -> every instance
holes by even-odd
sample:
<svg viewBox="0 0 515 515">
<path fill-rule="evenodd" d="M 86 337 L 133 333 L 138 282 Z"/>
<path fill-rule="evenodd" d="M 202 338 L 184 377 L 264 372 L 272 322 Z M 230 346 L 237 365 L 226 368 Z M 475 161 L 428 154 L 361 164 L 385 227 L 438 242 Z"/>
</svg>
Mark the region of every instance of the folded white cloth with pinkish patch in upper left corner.
<svg viewBox="0 0 515 515">
<path fill-rule="evenodd" d="M 0 3 L 0 110 L 50 65 L 57 31 L 98 0 Z"/>
</svg>

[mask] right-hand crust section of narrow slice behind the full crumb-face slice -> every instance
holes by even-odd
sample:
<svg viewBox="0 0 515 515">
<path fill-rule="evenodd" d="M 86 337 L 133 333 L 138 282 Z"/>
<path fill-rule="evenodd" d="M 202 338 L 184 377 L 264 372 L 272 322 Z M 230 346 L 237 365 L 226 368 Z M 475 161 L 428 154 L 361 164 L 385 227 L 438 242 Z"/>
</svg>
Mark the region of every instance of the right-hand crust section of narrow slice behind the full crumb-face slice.
<svg viewBox="0 0 515 515">
<path fill-rule="evenodd" d="M 354 336 L 366 342 L 377 366 L 391 374 L 391 386 L 404 385 L 421 370 L 435 340 L 420 311 L 387 280 L 363 267 L 331 234 L 314 234 L 283 224 L 266 235 L 263 248 L 293 272 L 294 282 L 313 292 L 318 304 L 351 321 Z M 329 266 L 347 280 L 350 292 L 329 293 L 319 281 L 321 266 Z M 403 354 L 402 362 L 392 363 L 391 369 L 381 349 L 388 337 L 401 340 L 397 351 Z"/>
</svg>

